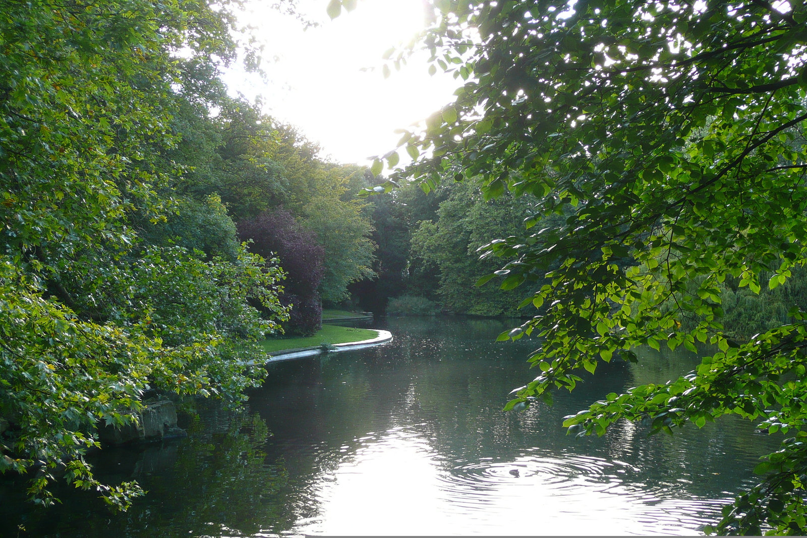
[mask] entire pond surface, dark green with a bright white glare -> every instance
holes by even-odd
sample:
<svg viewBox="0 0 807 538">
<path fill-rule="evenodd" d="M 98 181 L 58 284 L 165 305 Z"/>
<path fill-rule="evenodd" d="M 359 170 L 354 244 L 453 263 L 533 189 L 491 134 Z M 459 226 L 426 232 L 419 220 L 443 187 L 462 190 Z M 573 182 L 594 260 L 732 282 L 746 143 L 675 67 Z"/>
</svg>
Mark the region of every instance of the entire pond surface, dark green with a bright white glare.
<svg viewBox="0 0 807 538">
<path fill-rule="evenodd" d="M 102 478 L 149 490 L 128 513 L 68 488 L 44 511 L 5 477 L 0 534 L 19 524 L 19 536 L 696 534 L 780 442 L 732 417 L 674 437 L 630 423 L 564 435 L 563 415 L 676 377 L 692 355 L 605 365 L 553 407 L 504 413 L 508 392 L 534 377 L 528 341 L 491 341 L 507 321 L 377 327 L 395 340 L 270 367 L 249 404 L 273 434 L 266 444 L 255 415 L 200 404 L 187 440 L 94 456 Z"/>
</svg>

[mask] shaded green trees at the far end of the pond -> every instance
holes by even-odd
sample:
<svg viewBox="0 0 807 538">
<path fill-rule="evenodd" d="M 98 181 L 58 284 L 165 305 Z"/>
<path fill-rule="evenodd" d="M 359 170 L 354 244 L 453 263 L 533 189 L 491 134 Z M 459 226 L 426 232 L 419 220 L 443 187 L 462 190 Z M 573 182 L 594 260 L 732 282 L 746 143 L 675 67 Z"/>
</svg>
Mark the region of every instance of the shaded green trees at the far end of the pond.
<svg viewBox="0 0 807 538">
<path fill-rule="evenodd" d="M 533 213 L 528 198 L 506 194 L 486 201 L 471 183 L 450 181 L 429 194 L 404 185 L 372 198 L 371 203 L 378 277 L 351 287 L 366 307 L 391 314 L 430 314 L 437 309 L 455 314 L 521 315 L 516 307 L 530 290 L 502 294 L 474 284 L 500 265 L 495 257 L 480 259 L 478 249 L 491 236 L 507 237 L 521 231 L 523 219 Z M 553 219 L 560 217 L 548 218 L 547 224 Z M 414 307 L 416 298 L 424 299 L 424 305 L 437 302 L 439 306 Z"/>
</svg>

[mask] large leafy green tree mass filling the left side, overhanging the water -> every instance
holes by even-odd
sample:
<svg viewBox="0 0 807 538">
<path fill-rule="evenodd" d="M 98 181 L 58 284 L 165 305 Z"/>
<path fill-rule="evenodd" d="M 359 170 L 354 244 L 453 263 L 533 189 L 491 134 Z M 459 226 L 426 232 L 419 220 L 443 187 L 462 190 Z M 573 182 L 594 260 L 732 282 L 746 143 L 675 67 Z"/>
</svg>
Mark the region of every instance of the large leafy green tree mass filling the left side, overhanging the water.
<svg viewBox="0 0 807 538">
<path fill-rule="evenodd" d="M 98 426 L 137 420 L 149 393 L 239 402 L 265 375 L 282 271 L 236 242 L 219 198 L 177 195 L 191 164 L 169 157 L 175 119 L 220 95 L 232 30 L 208 2 L 3 4 L 0 473 L 30 471 L 36 502 L 61 468 L 127 507 L 136 483 L 84 459 Z"/>
</svg>

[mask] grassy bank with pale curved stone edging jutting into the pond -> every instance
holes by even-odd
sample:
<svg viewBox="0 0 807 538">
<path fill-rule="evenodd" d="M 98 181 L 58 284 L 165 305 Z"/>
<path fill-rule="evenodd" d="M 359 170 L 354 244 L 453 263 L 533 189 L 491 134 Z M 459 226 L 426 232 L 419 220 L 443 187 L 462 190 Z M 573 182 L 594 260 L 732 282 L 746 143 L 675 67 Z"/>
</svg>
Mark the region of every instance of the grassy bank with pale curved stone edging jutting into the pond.
<svg viewBox="0 0 807 538">
<path fill-rule="evenodd" d="M 388 331 L 323 325 L 314 336 L 264 340 L 261 345 L 273 358 L 295 358 L 328 351 L 347 351 L 392 340 Z"/>
</svg>

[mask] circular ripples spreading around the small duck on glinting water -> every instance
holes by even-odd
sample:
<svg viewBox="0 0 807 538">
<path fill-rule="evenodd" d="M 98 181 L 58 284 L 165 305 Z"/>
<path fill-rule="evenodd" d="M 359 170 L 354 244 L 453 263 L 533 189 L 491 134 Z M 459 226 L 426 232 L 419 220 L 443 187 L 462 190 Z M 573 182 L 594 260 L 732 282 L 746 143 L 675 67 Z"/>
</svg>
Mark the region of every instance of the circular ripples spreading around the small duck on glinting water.
<svg viewBox="0 0 807 538">
<path fill-rule="evenodd" d="M 475 525 L 500 527 L 509 512 L 509 520 L 525 528 L 535 529 L 540 520 L 541 534 L 692 534 L 729 502 L 632 483 L 639 472 L 622 461 L 550 457 L 535 449 L 508 461 L 457 462 L 440 480 L 451 511 Z M 572 528 L 563 523 L 569 520 Z"/>
</svg>

